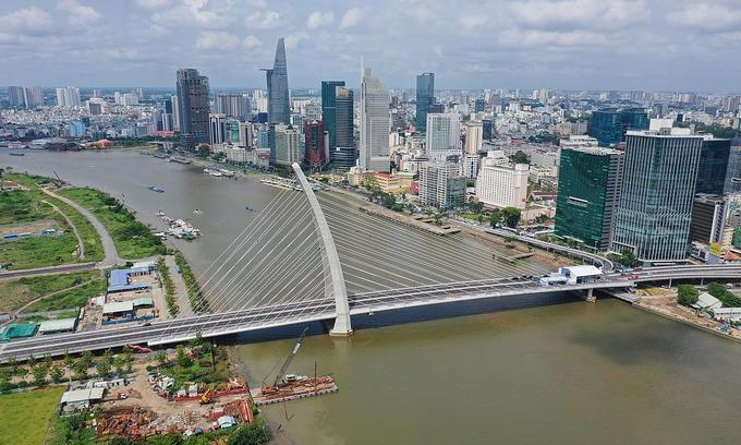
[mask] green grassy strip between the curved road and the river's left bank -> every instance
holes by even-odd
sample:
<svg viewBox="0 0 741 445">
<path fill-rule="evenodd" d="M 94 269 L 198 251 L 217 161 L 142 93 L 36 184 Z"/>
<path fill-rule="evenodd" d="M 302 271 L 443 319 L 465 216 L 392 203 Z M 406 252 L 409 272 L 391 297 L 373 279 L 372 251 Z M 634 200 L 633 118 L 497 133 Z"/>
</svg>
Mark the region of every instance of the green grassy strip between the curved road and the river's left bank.
<svg viewBox="0 0 741 445">
<path fill-rule="evenodd" d="M 151 234 L 145 224 L 123 207 L 116 199 L 94 189 L 65 189 L 60 194 L 90 209 L 100 219 L 116 243 L 119 255 L 136 260 L 165 254 L 162 240 Z"/>
</svg>

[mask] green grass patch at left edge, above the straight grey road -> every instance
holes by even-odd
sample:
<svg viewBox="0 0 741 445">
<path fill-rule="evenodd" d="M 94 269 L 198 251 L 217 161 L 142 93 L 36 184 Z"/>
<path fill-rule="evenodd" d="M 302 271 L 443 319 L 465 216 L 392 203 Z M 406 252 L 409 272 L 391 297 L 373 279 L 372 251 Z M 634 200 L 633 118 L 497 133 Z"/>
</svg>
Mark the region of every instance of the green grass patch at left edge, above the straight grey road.
<svg viewBox="0 0 741 445">
<path fill-rule="evenodd" d="M 64 226 L 64 234 L 0 241 L 0 264 L 12 263 L 13 270 L 77 263 L 77 238 Z"/>
</svg>

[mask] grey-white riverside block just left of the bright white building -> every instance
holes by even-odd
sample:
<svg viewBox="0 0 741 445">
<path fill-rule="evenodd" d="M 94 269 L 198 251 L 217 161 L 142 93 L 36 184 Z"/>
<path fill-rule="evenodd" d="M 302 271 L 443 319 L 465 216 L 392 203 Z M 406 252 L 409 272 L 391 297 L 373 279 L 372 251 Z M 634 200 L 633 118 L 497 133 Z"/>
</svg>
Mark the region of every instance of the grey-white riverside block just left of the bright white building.
<svg viewBox="0 0 741 445">
<path fill-rule="evenodd" d="M 453 163 L 420 164 L 420 203 L 438 208 L 455 208 L 465 203 L 465 178 Z"/>
</svg>

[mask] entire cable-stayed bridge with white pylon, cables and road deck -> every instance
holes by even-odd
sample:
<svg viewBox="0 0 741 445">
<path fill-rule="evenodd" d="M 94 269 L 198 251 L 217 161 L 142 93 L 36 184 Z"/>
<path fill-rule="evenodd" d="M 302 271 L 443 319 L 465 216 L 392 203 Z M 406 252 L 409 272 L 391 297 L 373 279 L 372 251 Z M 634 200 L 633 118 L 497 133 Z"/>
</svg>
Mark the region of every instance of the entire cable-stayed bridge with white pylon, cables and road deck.
<svg viewBox="0 0 741 445">
<path fill-rule="evenodd" d="M 181 316 L 150 325 L 34 337 L 0 346 L 10 357 L 59 356 L 125 344 L 166 345 L 205 337 L 321 323 L 332 335 L 352 333 L 353 321 L 400 311 L 464 304 L 508 308 L 544 303 L 575 291 L 624 288 L 641 280 L 734 278 L 739 266 L 678 266 L 627 280 L 605 274 L 588 284 L 542 287 L 551 272 L 536 262 L 493 261 L 496 244 L 469 237 L 437 237 L 363 215 L 332 194 L 281 190 L 201 277 L 203 299 L 178 297 Z M 558 246 L 552 246 L 558 249 Z M 496 277 L 496 278 L 493 278 Z M 534 277 L 534 278 L 533 278 Z M 560 297 L 559 297 L 560 296 Z"/>
</svg>

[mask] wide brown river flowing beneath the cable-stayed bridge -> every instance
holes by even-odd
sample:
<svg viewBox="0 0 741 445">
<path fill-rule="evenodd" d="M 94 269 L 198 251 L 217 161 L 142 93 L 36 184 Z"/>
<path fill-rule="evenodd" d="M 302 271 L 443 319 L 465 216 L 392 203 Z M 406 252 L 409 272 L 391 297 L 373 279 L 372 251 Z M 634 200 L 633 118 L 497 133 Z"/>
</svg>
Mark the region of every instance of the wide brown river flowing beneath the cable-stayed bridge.
<svg viewBox="0 0 741 445">
<path fill-rule="evenodd" d="M 163 207 L 173 216 L 191 217 L 205 234 L 178 246 L 196 270 L 206 269 L 254 217 L 245 214 L 245 204 L 259 211 L 277 193 L 255 181 L 212 178 L 132 151 L 34 152 L 24 157 L 0 151 L 0 166 L 7 165 L 46 176 L 57 171 L 74 184 L 100 188 L 150 224 L 161 224 L 154 214 Z M 149 192 L 149 184 L 166 193 Z M 194 208 L 202 215 L 191 216 Z M 359 236 L 337 228 L 338 244 L 348 255 Z M 388 241 L 390 245 L 439 249 L 435 237 L 398 230 L 399 239 Z M 537 262 L 517 269 L 493 266 L 473 240 L 446 242 L 460 242 L 464 251 L 451 262 L 457 269 L 451 277 L 549 267 Z M 463 261 L 476 267 L 461 266 Z M 423 266 L 415 269 L 420 281 L 427 276 Z M 394 285 L 392 277 L 388 280 L 379 279 L 378 286 Z M 367 286 L 353 282 L 355 290 Z M 259 384 L 266 375 L 269 380 L 292 346 L 293 340 L 241 346 L 251 383 Z M 319 373 L 332 374 L 339 393 L 265 409 L 270 420 L 283 424 L 280 435 L 300 444 L 741 440 L 738 344 L 614 300 L 364 329 L 350 339 L 313 336 L 304 340 L 291 369 L 311 375 L 315 362 Z"/>
</svg>

